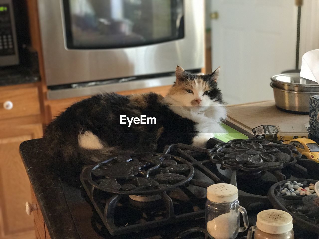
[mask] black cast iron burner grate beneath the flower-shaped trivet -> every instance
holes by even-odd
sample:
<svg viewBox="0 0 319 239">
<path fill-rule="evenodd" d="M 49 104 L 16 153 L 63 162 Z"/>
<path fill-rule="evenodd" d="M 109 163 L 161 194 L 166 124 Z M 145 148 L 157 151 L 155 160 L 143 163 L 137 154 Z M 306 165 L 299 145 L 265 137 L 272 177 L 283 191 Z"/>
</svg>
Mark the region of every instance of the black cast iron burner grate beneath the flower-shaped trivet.
<svg viewBox="0 0 319 239">
<path fill-rule="evenodd" d="M 251 140 L 265 141 L 263 139 Z M 238 141 L 242 142 L 242 140 Z M 280 143 L 276 145 L 277 142 L 272 143 L 280 149 L 285 147 L 285 145 Z M 216 147 L 214 149 L 216 150 L 220 148 L 221 145 L 226 144 L 227 143 L 219 141 L 216 138 L 211 138 L 207 143 L 207 146 L 211 148 Z M 300 154 L 291 150 L 289 146 L 283 149 L 283 151 L 287 149 L 290 150 L 296 158 L 300 158 Z M 287 152 L 289 152 L 288 150 Z M 268 190 L 278 181 L 282 181 L 287 178 L 317 179 L 319 177 L 317 174 L 317 170 L 319 168 L 318 164 L 308 159 L 298 159 L 298 163 L 295 163 L 296 158 L 292 157 L 293 159 L 291 162 L 293 163 L 287 163 L 286 165 L 283 165 L 285 167 L 279 167 L 277 170 L 274 168 L 266 170 L 267 167 L 260 168 L 260 166 L 257 166 L 259 167 L 258 170 L 256 170 L 256 168 L 249 170 L 249 167 L 245 168 L 245 170 L 241 170 L 242 167 L 240 166 L 242 165 L 229 167 L 229 165 L 223 163 L 224 161 L 215 162 L 215 160 L 212 160 L 210 157 L 211 149 L 197 148 L 187 144 L 173 144 L 166 146 L 164 153 L 180 156 L 189 161 L 195 169 L 207 172 L 211 175 L 211 177 L 218 177 L 221 178 L 223 182 L 235 185 L 238 188 L 241 206 L 246 209 L 254 203 L 270 204 L 267 197 Z M 193 181 L 194 180 L 195 178 L 193 177 Z"/>
</svg>

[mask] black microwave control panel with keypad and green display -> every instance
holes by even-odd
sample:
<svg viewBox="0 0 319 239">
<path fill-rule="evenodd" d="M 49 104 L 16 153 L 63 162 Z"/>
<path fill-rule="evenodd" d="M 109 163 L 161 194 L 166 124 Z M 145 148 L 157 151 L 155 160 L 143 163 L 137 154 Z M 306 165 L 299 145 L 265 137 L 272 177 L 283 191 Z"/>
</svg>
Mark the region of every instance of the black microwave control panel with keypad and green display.
<svg viewBox="0 0 319 239">
<path fill-rule="evenodd" d="M 13 54 L 15 51 L 10 9 L 8 4 L 2 4 L 0 5 L 0 56 Z"/>
</svg>

